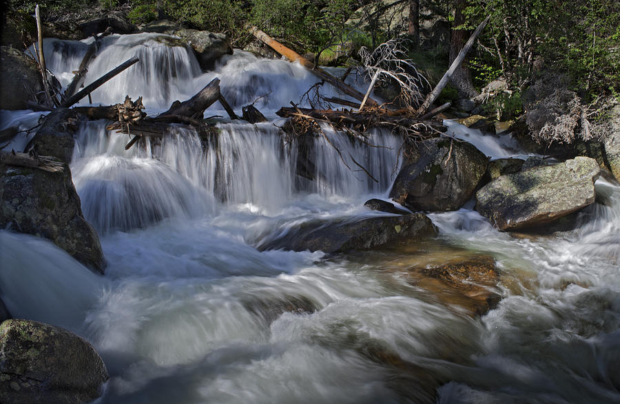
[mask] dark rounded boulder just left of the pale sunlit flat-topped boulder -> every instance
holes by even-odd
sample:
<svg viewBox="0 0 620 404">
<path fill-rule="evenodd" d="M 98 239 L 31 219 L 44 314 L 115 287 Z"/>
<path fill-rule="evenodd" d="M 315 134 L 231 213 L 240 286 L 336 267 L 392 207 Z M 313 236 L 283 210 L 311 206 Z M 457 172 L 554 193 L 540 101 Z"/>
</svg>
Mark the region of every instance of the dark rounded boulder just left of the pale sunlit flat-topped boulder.
<svg viewBox="0 0 620 404">
<path fill-rule="evenodd" d="M 486 156 L 467 142 L 430 139 L 419 143 L 420 155 L 406 162 L 390 198 L 413 211 L 454 211 L 474 191 L 488 162 Z"/>
</svg>

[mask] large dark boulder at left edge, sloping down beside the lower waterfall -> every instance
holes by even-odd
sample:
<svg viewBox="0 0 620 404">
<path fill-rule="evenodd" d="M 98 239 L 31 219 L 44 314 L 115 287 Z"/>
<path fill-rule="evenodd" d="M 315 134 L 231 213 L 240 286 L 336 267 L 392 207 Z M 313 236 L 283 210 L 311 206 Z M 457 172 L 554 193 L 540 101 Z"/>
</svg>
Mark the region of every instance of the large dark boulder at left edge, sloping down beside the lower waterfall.
<svg viewBox="0 0 620 404">
<path fill-rule="evenodd" d="M 82 215 L 68 165 L 59 160 L 0 155 L 0 228 L 46 238 L 103 273 L 99 237 Z"/>
</svg>

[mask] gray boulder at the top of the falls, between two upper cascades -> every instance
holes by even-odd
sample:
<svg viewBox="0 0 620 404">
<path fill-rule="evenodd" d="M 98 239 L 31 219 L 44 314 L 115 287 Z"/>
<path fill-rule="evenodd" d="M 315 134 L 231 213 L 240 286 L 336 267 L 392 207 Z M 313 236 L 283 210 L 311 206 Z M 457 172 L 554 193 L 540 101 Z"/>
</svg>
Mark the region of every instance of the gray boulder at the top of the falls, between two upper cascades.
<svg viewBox="0 0 620 404">
<path fill-rule="evenodd" d="M 198 30 L 178 30 L 174 34 L 189 43 L 203 70 L 211 69 L 220 57 L 233 53 L 226 34 Z"/>
</svg>

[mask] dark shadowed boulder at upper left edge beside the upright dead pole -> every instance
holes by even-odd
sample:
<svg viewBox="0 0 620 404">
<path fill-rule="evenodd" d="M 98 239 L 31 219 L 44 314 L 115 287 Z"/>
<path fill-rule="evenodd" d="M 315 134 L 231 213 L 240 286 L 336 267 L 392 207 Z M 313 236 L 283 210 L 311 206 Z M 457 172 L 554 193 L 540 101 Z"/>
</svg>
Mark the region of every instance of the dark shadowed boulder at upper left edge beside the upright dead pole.
<svg viewBox="0 0 620 404">
<path fill-rule="evenodd" d="M 41 92 L 37 63 L 17 49 L 0 47 L 0 109 L 28 109 L 28 100 L 36 101 Z"/>
</svg>

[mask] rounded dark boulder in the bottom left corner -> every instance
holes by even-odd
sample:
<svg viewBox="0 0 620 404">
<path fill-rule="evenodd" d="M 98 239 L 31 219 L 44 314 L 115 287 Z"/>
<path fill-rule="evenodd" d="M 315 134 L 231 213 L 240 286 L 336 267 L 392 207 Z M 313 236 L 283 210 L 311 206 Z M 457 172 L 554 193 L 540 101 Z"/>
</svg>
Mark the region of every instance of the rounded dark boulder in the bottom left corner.
<svg viewBox="0 0 620 404">
<path fill-rule="evenodd" d="M 85 403 L 107 379 L 99 354 L 71 332 L 27 320 L 0 326 L 2 403 Z"/>
</svg>

